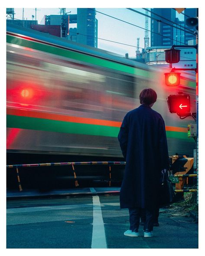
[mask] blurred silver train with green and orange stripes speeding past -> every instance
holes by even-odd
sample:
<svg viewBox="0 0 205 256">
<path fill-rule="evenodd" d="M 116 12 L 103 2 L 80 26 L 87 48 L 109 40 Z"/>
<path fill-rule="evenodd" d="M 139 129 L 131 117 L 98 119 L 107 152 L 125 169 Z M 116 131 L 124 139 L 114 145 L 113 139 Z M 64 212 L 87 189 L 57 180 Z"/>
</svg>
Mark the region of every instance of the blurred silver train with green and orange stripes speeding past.
<svg viewBox="0 0 205 256">
<path fill-rule="evenodd" d="M 195 73 L 167 87 L 168 67 L 153 67 L 101 49 L 7 24 L 7 152 L 119 159 L 125 114 L 142 89 L 158 95 L 153 109 L 166 124 L 169 155 L 193 156 L 191 117 L 169 113 L 167 96 L 187 93 L 195 112 Z M 10 163 L 9 163 L 10 164 Z M 19 163 L 17 163 L 19 164 Z"/>
</svg>

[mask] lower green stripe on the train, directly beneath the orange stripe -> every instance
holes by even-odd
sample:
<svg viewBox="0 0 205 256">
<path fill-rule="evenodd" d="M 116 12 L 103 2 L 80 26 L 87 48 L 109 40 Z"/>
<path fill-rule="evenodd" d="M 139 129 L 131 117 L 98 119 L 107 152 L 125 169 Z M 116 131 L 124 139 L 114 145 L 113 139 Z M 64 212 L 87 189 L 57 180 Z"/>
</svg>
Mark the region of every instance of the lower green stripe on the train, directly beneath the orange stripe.
<svg viewBox="0 0 205 256">
<path fill-rule="evenodd" d="M 54 131 L 82 135 L 97 135 L 105 137 L 117 137 L 120 128 L 105 125 L 90 125 L 72 123 L 43 118 L 31 118 L 16 115 L 7 115 L 8 128 L 21 128 L 40 131 Z M 186 132 L 166 131 L 167 138 L 177 138 L 190 141 Z"/>
</svg>

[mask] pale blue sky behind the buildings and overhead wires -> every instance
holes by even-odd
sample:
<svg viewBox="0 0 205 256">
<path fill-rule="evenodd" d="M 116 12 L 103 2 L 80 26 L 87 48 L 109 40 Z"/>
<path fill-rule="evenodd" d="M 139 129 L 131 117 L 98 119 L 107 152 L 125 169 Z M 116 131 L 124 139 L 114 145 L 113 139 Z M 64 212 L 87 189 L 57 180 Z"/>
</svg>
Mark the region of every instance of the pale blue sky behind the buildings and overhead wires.
<svg viewBox="0 0 205 256">
<path fill-rule="evenodd" d="M 69 6 L 69 4 L 66 4 L 66 6 Z M 145 10 L 142 8 L 133 9 L 140 11 L 141 13 L 145 13 Z M 129 57 L 134 57 L 136 56 L 137 37 L 140 38 L 140 47 L 144 48 L 145 16 L 128 10 L 127 8 L 96 8 L 96 11 L 96 19 L 98 20 L 98 38 L 101 38 L 98 39 L 98 48 L 111 51 L 122 56 L 125 56 L 125 53 L 128 53 Z M 60 8 L 36 8 L 36 10 L 35 8 L 14 8 L 14 13 L 15 19 L 22 20 L 23 17 L 25 20 L 36 19 L 38 20 L 38 24 L 44 24 L 44 15 L 60 15 Z M 68 7 L 66 8 L 66 13 L 76 14 L 77 8 Z M 130 25 L 120 20 L 116 20 L 101 13 L 113 16 L 120 20 L 124 20 L 139 27 Z M 32 18 L 32 15 L 34 18 Z M 183 18 L 184 16 L 182 14 L 179 15 L 180 20 Z M 150 30 L 150 19 L 148 20 L 148 29 Z M 76 26 L 75 24 L 72 25 Z M 122 45 L 119 43 L 112 43 L 102 39 L 124 43 L 130 46 Z"/>
</svg>

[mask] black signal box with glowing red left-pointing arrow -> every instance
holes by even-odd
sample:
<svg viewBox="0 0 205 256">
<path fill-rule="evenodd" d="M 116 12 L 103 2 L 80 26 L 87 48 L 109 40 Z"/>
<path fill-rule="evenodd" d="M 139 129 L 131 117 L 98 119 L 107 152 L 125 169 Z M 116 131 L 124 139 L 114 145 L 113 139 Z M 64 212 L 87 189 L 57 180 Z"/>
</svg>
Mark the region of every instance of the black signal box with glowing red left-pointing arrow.
<svg viewBox="0 0 205 256">
<path fill-rule="evenodd" d="M 188 94 L 169 95 L 167 103 L 170 113 L 177 113 L 184 116 L 190 112 L 190 96 Z"/>
</svg>

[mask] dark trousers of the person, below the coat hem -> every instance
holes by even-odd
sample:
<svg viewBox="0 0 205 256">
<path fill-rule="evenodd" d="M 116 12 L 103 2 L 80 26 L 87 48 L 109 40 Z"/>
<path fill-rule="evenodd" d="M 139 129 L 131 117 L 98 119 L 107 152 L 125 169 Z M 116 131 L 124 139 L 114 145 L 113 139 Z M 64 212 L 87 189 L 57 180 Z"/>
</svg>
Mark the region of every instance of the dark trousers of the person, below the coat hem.
<svg viewBox="0 0 205 256">
<path fill-rule="evenodd" d="M 130 214 L 130 230 L 138 231 L 140 225 L 140 214 L 142 208 L 129 208 Z M 144 209 L 145 212 L 145 223 L 144 223 L 144 230 L 153 231 L 153 217 L 154 217 L 154 210 Z"/>
</svg>

